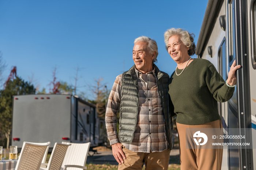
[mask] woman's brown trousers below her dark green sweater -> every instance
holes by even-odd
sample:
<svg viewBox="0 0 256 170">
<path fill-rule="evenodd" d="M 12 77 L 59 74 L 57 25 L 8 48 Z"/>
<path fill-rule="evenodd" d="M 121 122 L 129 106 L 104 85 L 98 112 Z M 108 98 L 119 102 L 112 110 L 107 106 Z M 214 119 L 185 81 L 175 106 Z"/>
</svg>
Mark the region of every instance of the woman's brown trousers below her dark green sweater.
<svg viewBox="0 0 256 170">
<path fill-rule="evenodd" d="M 221 170 L 221 149 L 186 149 L 186 128 L 222 128 L 221 120 L 200 125 L 176 123 L 180 144 L 181 170 Z"/>
</svg>

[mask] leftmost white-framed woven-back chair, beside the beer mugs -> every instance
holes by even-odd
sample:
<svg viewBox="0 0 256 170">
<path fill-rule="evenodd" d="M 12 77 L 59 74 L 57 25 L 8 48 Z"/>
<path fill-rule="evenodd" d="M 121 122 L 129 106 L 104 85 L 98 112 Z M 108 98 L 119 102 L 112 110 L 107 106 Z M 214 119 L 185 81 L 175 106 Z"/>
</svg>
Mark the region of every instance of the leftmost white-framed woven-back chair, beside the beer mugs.
<svg viewBox="0 0 256 170">
<path fill-rule="evenodd" d="M 15 170 L 39 170 L 45 151 L 50 144 L 23 142 Z"/>
</svg>

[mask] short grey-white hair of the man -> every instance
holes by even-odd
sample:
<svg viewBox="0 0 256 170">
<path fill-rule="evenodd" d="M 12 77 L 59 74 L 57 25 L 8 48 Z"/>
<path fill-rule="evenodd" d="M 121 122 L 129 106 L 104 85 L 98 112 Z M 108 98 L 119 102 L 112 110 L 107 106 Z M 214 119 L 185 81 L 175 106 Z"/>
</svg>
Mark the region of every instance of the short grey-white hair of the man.
<svg viewBox="0 0 256 170">
<path fill-rule="evenodd" d="M 146 42 L 147 43 L 147 50 L 149 51 L 150 54 L 153 54 L 155 52 L 155 57 L 153 59 L 153 63 L 157 63 L 157 56 L 158 56 L 158 47 L 157 47 L 157 42 L 155 40 L 147 37 L 147 36 L 140 36 L 134 40 L 134 44 L 137 42 Z"/>
</svg>

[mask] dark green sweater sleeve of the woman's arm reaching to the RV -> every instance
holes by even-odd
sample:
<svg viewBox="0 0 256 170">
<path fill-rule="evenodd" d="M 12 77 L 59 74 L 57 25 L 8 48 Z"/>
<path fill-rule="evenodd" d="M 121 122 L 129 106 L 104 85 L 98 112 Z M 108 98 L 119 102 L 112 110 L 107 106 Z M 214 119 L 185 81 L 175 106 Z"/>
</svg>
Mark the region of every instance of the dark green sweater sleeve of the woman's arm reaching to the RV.
<svg viewBox="0 0 256 170">
<path fill-rule="evenodd" d="M 215 98 L 215 100 L 220 102 L 225 102 L 230 100 L 233 96 L 235 88 L 228 87 L 221 77 L 221 75 L 217 72 L 214 65 L 210 65 L 205 72 L 205 81 L 208 86 L 209 91 Z"/>
</svg>

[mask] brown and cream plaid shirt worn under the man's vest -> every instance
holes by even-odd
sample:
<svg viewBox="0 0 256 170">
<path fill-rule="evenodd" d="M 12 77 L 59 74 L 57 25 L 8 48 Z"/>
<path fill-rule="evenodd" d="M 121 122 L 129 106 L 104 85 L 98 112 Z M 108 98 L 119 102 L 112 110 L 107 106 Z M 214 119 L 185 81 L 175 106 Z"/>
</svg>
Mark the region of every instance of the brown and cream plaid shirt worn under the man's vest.
<svg viewBox="0 0 256 170">
<path fill-rule="evenodd" d="M 166 137 L 165 119 L 161 99 L 157 88 L 155 69 L 146 75 L 135 69 L 138 76 L 139 111 L 132 144 L 123 145 L 133 152 L 161 152 L 169 148 Z M 110 145 L 118 143 L 117 112 L 120 107 L 122 74 L 116 81 L 109 95 L 106 109 L 106 129 Z M 148 100 L 150 99 L 150 100 Z"/>
</svg>

